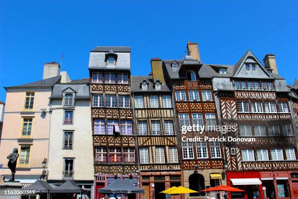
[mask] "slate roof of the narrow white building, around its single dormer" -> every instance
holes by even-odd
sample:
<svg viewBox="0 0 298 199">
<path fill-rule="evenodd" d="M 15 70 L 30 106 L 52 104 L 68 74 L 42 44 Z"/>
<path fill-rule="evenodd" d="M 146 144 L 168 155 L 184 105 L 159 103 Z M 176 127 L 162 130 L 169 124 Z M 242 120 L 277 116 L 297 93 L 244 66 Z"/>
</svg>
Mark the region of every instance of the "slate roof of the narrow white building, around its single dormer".
<svg viewBox="0 0 298 199">
<path fill-rule="evenodd" d="M 86 83 L 86 80 L 74 80 L 67 83 L 57 83 L 54 85 L 52 92 L 52 99 L 59 99 L 63 96 L 63 91 L 66 89 L 72 89 L 75 91 L 76 99 L 90 99 L 89 92 L 89 80 Z"/>
</svg>

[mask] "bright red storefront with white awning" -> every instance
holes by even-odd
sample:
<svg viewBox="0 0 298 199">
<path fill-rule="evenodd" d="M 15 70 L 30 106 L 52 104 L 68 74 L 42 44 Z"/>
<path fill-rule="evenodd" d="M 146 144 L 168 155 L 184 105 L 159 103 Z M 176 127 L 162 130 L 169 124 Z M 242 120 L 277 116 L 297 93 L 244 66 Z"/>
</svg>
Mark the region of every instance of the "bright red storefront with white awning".
<svg viewBox="0 0 298 199">
<path fill-rule="evenodd" d="M 227 172 L 227 185 L 245 192 L 229 193 L 230 199 L 264 199 L 260 172 Z"/>
</svg>

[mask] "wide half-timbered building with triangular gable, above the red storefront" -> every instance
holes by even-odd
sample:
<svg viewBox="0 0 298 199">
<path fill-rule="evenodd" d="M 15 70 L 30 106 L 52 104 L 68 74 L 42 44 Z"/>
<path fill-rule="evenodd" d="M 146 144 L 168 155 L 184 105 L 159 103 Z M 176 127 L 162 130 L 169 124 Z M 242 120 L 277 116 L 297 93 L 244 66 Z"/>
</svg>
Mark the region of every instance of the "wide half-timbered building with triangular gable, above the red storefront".
<svg viewBox="0 0 298 199">
<path fill-rule="evenodd" d="M 225 137 L 256 139 L 224 147 L 227 185 L 246 191 L 232 198 L 294 198 L 298 161 L 289 89 L 278 75 L 274 55 L 266 55 L 264 65 L 250 50 L 234 66 L 210 65 L 222 124 L 237 127 Z"/>
</svg>

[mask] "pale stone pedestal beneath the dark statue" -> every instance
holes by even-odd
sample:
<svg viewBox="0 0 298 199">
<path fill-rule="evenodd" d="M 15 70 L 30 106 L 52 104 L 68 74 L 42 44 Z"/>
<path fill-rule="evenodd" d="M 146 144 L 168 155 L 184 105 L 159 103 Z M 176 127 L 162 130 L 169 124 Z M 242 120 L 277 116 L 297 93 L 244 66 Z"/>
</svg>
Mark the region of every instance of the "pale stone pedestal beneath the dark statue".
<svg viewBox="0 0 298 199">
<path fill-rule="evenodd" d="M 11 190 L 20 191 L 22 188 L 19 181 L 8 180 L 0 184 L 0 198 L 1 199 L 20 199 L 21 195 L 14 194 Z"/>
</svg>

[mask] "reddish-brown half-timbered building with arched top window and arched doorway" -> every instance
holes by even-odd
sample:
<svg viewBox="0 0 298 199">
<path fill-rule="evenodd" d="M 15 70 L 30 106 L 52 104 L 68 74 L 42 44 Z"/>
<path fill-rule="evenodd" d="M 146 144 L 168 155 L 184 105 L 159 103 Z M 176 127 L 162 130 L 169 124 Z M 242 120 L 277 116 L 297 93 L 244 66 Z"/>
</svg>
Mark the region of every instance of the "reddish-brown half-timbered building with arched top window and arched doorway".
<svg viewBox="0 0 298 199">
<path fill-rule="evenodd" d="M 187 50 L 189 55 L 185 60 L 163 60 L 163 63 L 175 100 L 183 183 L 185 187 L 198 191 L 185 196 L 204 198 L 206 193 L 201 190 L 225 184 L 224 154 L 221 142 L 193 139 L 220 137 L 220 132 L 210 129 L 203 133 L 198 129 L 186 133 L 182 131 L 187 126 L 219 125 L 209 66 L 200 62 L 197 43 L 188 42 Z"/>
</svg>

